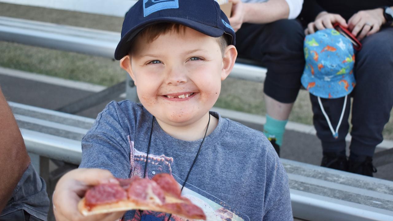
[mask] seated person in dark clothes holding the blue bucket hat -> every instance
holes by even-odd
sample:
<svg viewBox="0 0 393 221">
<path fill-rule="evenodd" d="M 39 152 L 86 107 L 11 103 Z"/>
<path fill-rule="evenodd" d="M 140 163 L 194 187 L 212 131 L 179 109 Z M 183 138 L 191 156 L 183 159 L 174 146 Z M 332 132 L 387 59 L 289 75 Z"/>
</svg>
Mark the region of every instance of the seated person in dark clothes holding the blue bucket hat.
<svg viewBox="0 0 393 221">
<path fill-rule="evenodd" d="M 351 99 L 346 100 L 346 110 L 341 116 L 344 97 L 321 98 L 321 105 L 332 123 L 329 126 L 318 97 L 310 94 L 314 112 L 313 122 L 323 148 L 321 166 L 367 176 L 373 176 L 373 172 L 376 172 L 372 163 L 373 154 L 376 145 L 383 140 L 382 130 L 389 121 L 393 106 L 392 9 L 393 0 L 304 1 L 300 17 L 308 24 L 305 29 L 306 35 L 317 30 L 333 28 L 332 24 L 339 22 L 362 44 L 362 49 L 354 56 L 356 62 L 353 74 L 356 86 L 351 92 L 352 140 L 348 159 L 345 153 L 345 136 L 349 130 Z M 352 58 L 349 58 L 349 61 L 351 60 Z M 345 60 L 342 63 L 349 61 Z M 336 128 L 340 117 L 342 123 L 338 134 L 332 136 L 330 127 Z"/>
</svg>

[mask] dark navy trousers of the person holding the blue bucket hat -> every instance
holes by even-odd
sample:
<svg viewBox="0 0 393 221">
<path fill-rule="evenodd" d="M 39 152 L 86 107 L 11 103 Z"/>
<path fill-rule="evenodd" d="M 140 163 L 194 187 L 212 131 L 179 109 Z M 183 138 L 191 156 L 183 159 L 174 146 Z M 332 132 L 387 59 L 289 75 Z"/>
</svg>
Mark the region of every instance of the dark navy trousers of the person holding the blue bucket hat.
<svg viewBox="0 0 393 221">
<path fill-rule="evenodd" d="M 352 131 L 350 150 L 357 155 L 373 156 L 382 142 L 382 130 L 389 121 L 393 106 L 393 28 L 385 28 L 362 40 L 363 48 L 356 53 L 354 74 L 356 86 L 351 96 Z M 323 151 L 345 150 L 345 136 L 349 130 L 350 99 L 342 125 L 335 139 L 323 116 L 318 99 L 310 94 L 314 126 L 322 142 Z M 335 129 L 340 119 L 344 98 L 323 99 L 323 107 Z"/>
</svg>

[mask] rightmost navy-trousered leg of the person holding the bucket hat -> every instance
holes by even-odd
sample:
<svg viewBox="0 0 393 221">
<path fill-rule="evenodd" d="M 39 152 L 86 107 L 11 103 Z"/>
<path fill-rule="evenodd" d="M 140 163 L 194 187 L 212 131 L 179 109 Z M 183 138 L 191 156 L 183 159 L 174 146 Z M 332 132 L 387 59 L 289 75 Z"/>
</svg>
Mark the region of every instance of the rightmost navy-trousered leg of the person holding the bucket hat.
<svg viewBox="0 0 393 221">
<path fill-rule="evenodd" d="M 382 29 L 366 37 L 356 54 L 350 145 L 350 159 L 355 161 L 373 156 L 389 121 L 393 106 L 392 36 L 393 28 Z"/>
</svg>

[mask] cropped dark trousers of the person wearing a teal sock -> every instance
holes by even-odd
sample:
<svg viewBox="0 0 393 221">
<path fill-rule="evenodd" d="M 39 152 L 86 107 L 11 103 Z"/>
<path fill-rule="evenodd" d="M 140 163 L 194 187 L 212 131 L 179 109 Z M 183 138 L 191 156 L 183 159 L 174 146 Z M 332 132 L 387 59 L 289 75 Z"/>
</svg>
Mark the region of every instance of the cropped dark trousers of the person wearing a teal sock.
<svg viewBox="0 0 393 221">
<path fill-rule="evenodd" d="M 260 62 L 268 71 L 264 93 L 281 103 L 298 96 L 304 69 L 304 33 L 297 20 L 243 24 L 236 32 L 239 57 Z"/>
</svg>

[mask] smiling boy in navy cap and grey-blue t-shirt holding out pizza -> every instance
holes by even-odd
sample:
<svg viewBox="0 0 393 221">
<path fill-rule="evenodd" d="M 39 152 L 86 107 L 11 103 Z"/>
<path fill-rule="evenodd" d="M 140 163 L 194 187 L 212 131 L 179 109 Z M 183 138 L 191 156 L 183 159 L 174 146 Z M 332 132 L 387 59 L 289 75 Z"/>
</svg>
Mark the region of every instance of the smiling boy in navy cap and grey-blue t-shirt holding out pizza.
<svg viewBox="0 0 393 221">
<path fill-rule="evenodd" d="M 237 56 L 235 33 L 213 0 L 138 1 L 127 13 L 115 58 L 137 85 L 141 104 L 111 102 L 82 141 L 81 168 L 114 177 L 170 173 L 208 220 L 292 220 L 288 178 L 259 131 L 218 113 L 221 81 Z M 59 220 L 81 217 L 86 186 L 116 182 L 108 171 L 77 169 L 54 194 Z M 184 220 L 128 211 L 123 220 Z"/>
</svg>

